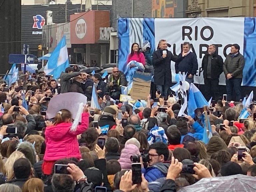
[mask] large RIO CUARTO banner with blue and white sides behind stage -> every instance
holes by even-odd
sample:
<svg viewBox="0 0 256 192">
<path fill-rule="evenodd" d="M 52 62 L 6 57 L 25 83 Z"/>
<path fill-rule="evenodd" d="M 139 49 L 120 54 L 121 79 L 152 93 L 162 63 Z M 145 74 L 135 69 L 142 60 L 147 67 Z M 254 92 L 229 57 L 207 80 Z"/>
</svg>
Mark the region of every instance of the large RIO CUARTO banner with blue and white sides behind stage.
<svg viewBox="0 0 256 192">
<path fill-rule="evenodd" d="M 243 86 L 256 86 L 256 18 L 120 18 L 118 20 L 119 69 L 126 73 L 126 60 L 132 43 L 142 45 L 150 42 L 151 54 L 157 49 L 158 42 L 165 39 L 174 55 L 182 51 L 183 42 L 191 44 L 191 52 L 198 60 L 196 84 L 203 84 L 202 58 L 209 45 L 214 44 L 216 51 L 225 61 L 232 44 L 240 45 L 240 53 L 245 57 Z M 128 35 L 127 35 L 128 34 Z M 171 62 L 172 82 L 175 82 L 175 63 Z M 225 85 L 224 73 L 220 85 Z"/>
</svg>

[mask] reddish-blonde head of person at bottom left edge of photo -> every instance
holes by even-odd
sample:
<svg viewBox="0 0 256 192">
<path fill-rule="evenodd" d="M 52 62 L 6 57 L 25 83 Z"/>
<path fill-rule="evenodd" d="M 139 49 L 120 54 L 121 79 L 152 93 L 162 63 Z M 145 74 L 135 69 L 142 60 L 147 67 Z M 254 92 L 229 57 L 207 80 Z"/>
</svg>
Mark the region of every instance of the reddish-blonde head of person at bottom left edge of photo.
<svg viewBox="0 0 256 192">
<path fill-rule="evenodd" d="M 22 192 L 44 192 L 44 183 L 41 179 L 31 178 L 23 185 Z"/>
</svg>

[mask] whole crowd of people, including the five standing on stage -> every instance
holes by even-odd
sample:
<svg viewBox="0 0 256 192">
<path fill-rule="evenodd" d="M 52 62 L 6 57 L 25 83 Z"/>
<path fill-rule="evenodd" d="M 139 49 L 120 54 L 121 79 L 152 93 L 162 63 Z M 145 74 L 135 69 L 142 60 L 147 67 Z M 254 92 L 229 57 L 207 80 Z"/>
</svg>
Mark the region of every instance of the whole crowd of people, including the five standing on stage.
<svg viewBox="0 0 256 192">
<path fill-rule="evenodd" d="M 232 62 L 238 64 L 242 56 L 238 45 L 232 47 L 223 65 L 215 46 L 209 46 L 203 59 L 206 83 L 215 85 L 222 71 L 227 81 L 241 77 Z M 166 49 L 161 40 L 147 60 L 133 44 L 127 63 L 153 65 L 157 88 L 155 96 L 149 94 L 134 106 L 119 101 L 127 79 L 117 67 L 105 81 L 98 73 L 68 67 L 56 80 L 43 72 L 27 72 L 16 83 L 2 83 L 0 192 L 175 192 L 204 178 L 256 176 L 256 104 L 251 102 L 246 109 L 250 116 L 241 119 L 245 106 L 219 100 L 213 90 L 216 103 L 196 109 L 195 118 L 179 117 L 181 104 L 168 94 L 170 61 L 176 62 L 177 72 L 187 72 L 189 83 L 198 66 L 189 43 L 177 57 Z M 236 89 L 236 81 L 227 86 Z M 91 107 L 93 86 L 100 108 Z M 81 123 L 68 109 L 47 118 L 51 99 L 67 92 L 87 96 Z M 238 92 L 236 98 L 240 100 Z M 212 133 L 208 143 L 202 141 L 205 117 Z"/>
</svg>

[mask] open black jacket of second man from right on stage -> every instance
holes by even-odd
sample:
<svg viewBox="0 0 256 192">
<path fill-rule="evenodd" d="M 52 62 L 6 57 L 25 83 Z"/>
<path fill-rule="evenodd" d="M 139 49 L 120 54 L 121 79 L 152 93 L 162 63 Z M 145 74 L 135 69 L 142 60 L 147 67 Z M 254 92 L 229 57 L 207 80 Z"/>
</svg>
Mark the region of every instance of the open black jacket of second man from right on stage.
<svg viewBox="0 0 256 192">
<path fill-rule="evenodd" d="M 207 66 L 208 66 L 209 54 L 206 54 L 202 60 L 202 69 L 204 70 L 204 78 L 207 78 Z M 216 52 L 212 55 L 211 60 L 211 78 L 220 78 L 220 74 L 223 72 L 223 59 Z"/>
</svg>

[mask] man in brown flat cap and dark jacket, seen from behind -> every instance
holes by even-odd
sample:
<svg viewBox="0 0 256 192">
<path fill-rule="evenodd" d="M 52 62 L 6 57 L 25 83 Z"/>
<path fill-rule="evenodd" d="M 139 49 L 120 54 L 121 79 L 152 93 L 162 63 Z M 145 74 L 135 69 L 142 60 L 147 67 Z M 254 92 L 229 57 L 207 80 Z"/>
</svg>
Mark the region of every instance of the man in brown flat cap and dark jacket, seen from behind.
<svg viewBox="0 0 256 192">
<path fill-rule="evenodd" d="M 116 127 L 116 121 L 114 117 L 116 116 L 116 110 L 112 107 L 105 107 L 104 111 L 99 119 L 99 126 L 103 130 L 114 129 Z M 107 131 L 106 131 L 107 132 Z"/>
</svg>

